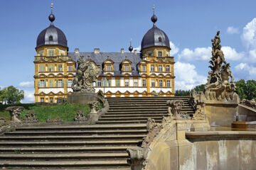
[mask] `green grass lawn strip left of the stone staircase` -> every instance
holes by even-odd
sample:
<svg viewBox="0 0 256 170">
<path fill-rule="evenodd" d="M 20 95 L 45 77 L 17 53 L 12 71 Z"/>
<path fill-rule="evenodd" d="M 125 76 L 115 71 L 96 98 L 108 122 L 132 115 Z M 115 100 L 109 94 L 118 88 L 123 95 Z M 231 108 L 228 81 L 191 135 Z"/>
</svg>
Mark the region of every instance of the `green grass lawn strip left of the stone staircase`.
<svg viewBox="0 0 256 170">
<path fill-rule="evenodd" d="M 90 113 L 90 106 L 84 104 L 65 104 L 60 106 L 38 106 L 35 103 L 16 104 L 15 106 L 23 106 L 26 110 L 21 112 L 23 118 L 29 110 L 34 110 L 39 119 L 39 122 L 46 122 L 48 118 L 60 117 L 64 122 L 74 120 L 78 111 L 83 111 L 85 115 Z M 0 105 L 0 118 L 4 118 L 6 123 L 10 122 L 9 111 L 5 111 L 8 105 Z"/>
</svg>

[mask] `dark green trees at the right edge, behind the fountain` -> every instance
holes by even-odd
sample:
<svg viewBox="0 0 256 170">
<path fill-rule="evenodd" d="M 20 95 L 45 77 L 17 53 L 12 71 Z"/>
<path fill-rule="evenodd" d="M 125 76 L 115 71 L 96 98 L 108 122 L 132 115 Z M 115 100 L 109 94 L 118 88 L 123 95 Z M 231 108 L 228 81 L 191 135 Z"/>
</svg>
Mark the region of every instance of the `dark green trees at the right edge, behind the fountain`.
<svg viewBox="0 0 256 170">
<path fill-rule="evenodd" d="M 255 80 L 247 80 L 240 79 L 240 81 L 235 82 L 236 90 L 235 92 L 240 97 L 240 100 L 247 99 L 252 100 L 254 98 L 256 100 L 256 81 Z"/>
</svg>

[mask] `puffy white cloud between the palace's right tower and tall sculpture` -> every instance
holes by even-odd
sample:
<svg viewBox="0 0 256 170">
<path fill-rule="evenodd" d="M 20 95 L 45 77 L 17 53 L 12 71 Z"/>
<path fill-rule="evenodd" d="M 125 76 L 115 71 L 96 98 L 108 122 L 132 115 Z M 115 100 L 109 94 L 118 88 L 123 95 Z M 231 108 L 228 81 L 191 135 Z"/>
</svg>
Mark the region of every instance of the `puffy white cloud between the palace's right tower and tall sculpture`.
<svg viewBox="0 0 256 170">
<path fill-rule="evenodd" d="M 196 67 L 193 64 L 176 62 L 175 70 L 175 89 L 176 90 L 191 90 L 200 84 L 206 84 L 206 77 L 199 75 L 196 72 Z"/>
</svg>

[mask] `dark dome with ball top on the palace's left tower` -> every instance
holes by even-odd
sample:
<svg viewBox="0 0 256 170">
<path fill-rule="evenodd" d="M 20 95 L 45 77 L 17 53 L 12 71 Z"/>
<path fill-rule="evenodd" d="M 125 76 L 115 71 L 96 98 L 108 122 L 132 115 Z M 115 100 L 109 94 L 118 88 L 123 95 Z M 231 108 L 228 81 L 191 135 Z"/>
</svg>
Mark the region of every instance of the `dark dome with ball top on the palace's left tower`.
<svg viewBox="0 0 256 170">
<path fill-rule="evenodd" d="M 53 21 L 55 16 L 50 13 L 48 17 L 50 20 L 50 26 L 41 31 L 36 40 L 36 47 L 41 47 L 43 45 L 61 45 L 63 47 L 68 47 L 68 40 L 65 34 L 59 28 L 53 26 Z"/>
</svg>

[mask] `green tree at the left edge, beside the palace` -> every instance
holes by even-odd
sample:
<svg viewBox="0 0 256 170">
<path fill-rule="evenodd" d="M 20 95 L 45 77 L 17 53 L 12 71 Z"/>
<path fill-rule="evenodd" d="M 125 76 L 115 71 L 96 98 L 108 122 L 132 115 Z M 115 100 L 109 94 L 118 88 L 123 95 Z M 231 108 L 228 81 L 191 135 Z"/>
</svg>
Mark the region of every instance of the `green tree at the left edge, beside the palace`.
<svg viewBox="0 0 256 170">
<path fill-rule="evenodd" d="M 0 101 L 6 104 L 21 103 L 24 98 L 24 91 L 18 90 L 14 86 L 8 86 L 0 91 Z"/>
</svg>

